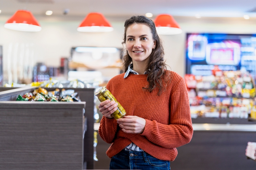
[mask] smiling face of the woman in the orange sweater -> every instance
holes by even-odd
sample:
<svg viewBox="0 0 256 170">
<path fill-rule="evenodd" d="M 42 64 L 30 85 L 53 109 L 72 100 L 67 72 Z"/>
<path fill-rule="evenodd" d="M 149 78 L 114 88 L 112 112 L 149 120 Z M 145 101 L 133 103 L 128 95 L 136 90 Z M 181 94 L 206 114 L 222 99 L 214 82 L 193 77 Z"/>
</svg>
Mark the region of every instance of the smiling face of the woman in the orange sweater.
<svg viewBox="0 0 256 170">
<path fill-rule="evenodd" d="M 152 49 L 156 47 L 150 27 L 145 24 L 134 23 L 126 30 L 126 50 L 132 62 L 147 62 Z"/>
</svg>

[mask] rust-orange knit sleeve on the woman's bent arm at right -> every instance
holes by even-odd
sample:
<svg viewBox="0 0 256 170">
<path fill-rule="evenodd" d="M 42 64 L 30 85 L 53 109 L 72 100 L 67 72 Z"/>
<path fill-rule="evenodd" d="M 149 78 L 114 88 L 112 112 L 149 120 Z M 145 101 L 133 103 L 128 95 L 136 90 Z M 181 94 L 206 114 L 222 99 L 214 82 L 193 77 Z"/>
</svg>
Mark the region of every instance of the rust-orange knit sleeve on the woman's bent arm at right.
<svg viewBox="0 0 256 170">
<path fill-rule="evenodd" d="M 179 80 L 170 95 L 170 124 L 146 120 L 142 135 L 163 148 L 176 148 L 190 142 L 193 128 L 187 88 L 183 78 Z"/>
</svg>

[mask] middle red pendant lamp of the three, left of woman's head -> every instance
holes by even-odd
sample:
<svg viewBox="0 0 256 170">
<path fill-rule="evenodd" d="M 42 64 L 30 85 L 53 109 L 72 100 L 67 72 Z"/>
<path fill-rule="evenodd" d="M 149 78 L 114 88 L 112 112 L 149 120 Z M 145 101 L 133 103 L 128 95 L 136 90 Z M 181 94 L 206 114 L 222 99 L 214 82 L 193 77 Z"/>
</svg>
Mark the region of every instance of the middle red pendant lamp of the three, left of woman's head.
<svg viewBox="0 0 256 170">
<path fill-rule="evenodd" d="M 89 13 L 81 22 L 79 32 L 110 32 L 113 27 L 101 13 Z"/>
</svg>

